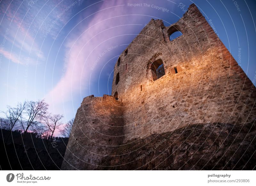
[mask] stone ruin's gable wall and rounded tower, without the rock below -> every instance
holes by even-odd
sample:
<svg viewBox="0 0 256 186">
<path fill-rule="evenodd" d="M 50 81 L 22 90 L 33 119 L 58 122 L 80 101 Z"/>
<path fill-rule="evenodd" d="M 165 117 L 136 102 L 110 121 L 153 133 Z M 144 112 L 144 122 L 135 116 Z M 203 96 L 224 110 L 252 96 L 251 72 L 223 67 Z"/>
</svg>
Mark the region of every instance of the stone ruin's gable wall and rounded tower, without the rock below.
<svg viewBox="0 0 256 186">
<path fill-rule="evenodd" d="M 195 4 L 171 26 L 151 19 L 116 62 L 112 95 L 84 98 L 62 169 L 118 167 L 116 149 L 134 140 L 256 118 L 255 87 Z"/>
</svg>

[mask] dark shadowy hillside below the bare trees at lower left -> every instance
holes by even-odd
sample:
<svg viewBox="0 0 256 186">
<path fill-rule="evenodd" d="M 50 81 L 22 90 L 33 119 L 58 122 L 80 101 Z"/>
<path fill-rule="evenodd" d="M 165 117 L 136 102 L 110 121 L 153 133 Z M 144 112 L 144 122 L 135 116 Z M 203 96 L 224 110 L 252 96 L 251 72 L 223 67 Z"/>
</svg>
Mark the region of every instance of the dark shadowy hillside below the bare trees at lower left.
<svg viewBox="0 0 256 186">
<path fill-rule="evenodd" d="M 52 144 L 36 133 L 22 137 L 20 131 L 1 130 L 1 170 L 60 170 L 68 138 L 56 137 Z"/>
</svg>

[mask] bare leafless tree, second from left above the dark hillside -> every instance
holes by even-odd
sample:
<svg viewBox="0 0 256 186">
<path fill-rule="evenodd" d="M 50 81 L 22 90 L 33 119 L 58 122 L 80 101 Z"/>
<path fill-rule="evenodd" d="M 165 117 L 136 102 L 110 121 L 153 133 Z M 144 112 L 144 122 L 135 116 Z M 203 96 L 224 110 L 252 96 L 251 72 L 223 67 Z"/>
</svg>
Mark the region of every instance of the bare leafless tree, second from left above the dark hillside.
<svg viewBox="0 0 256 186">
<path fill-rule="evenodd" d="M 47 114 L 48 106 L 44 99 L 26 103 L 25 116 L 20 118 L 24 136 L 27 134 L 29 128 L 36 127 L 40 120 L 44 118 Z"/>
</svg>

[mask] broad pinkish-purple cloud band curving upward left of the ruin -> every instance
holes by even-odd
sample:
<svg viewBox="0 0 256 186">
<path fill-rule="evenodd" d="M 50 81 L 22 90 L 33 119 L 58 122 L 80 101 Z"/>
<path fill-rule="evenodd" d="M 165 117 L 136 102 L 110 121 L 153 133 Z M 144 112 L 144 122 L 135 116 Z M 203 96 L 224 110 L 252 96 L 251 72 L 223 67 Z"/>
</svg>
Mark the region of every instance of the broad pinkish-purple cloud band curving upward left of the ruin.
<svg viewBox="0 0 256 186">
<path fill-rule="evenodd" d="M 140 13 L 143 15 L 148 11 L 150 10 L 141 9 Z M 101 70 L 102 63 L 106 63 L 105 58 L 102 58 L 95 70 L 92 71 L 90 69 L 94 65 L 93 62 L 100 53 L 109 47 L 123 44 L 124 41 L 120 41 L 120 35 L 127 33 L 127 30 L 132 33 L 132 30 L 138 28 L 138 25 L 134 23 L 145 19 L 145 16 L 131 16 L 137 12 L 132 8 L 127 8 L 127 3 L 124 1 L 104 1 L 98 12 L 92 12 L 90 17 L 82 19 L 75 28 L 76 34 L 68 35 L 70 39 L 66 44 L 68 61 L 65 63 L 67 66 L 65 74 L 52 91 L 46 95 L 46 98 L 58 104 L 63 100 L 71 100 L 72 93 L 76 94 L 81 89 L 89 89 L 90 76 L 93 79 L 93 76 Z M 91 17 L 93 19 L 90 19 Z M 90 21 L 87 21 L 88 19 Z M 131 23 L 134 25 L 129 25 Z M 84 32 L 77 35 L 77 30 Z"/>
</svg>

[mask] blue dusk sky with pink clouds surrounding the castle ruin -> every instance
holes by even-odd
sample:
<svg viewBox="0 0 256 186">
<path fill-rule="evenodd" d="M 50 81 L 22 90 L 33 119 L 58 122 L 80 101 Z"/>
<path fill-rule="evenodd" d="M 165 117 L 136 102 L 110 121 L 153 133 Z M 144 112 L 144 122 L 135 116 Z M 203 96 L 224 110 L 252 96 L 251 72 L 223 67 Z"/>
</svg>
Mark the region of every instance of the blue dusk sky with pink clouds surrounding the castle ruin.
<svg viewBox="0 0 256 186">
<path fill-rule="evenodd" d="M 256 1 L 2 0 L 0 111 L 24 100 L 45 99 L 49 111 L 63 114 L 67 122 L 84 97 L 111 94 L 120 53 L 150 19 L 163 19 L 167 27 L 192 3 L 253 79 Z"/>
</svg>

